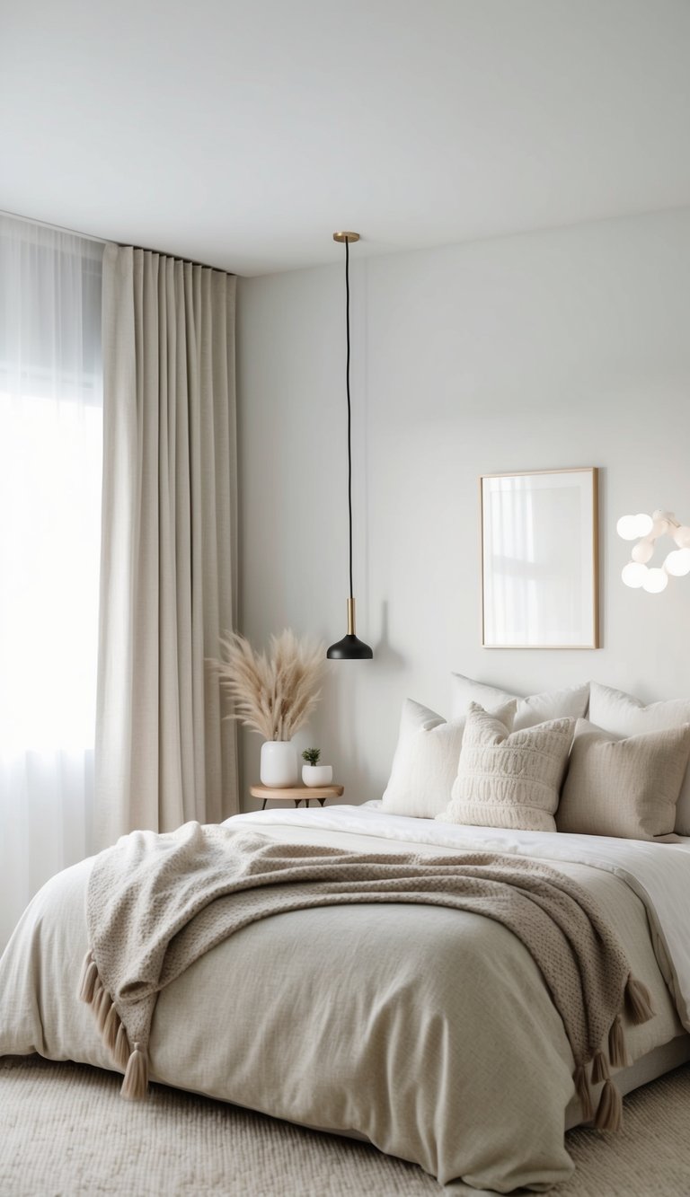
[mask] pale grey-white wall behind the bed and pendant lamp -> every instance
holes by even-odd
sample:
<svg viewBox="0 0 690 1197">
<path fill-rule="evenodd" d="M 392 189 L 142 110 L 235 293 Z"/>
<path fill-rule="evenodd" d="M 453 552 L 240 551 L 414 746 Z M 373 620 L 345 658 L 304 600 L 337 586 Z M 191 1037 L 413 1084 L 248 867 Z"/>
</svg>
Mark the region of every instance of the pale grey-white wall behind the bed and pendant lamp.
<svg viewBox="0 0 690 1197">
<path fill-rule="evenodd" d="M 365 230 L 363 230 L 365 232 Z M 344 263 L 241 280 L 241 626 L 346 631 Z M 690 694 L 690 577 L 623 587 L 616 519 L 690 522 L 690 211 L 365 260 L 351 251 L 357 632 L 299 747 L 380 796 L 405 695 L 449 673 Z M 480 646 L 478 475 L 600 468 L 600 650 Z M 659 551 L 658 551 L 659 552 Z M 244 735 L 244 785 L 260 740 Z M 244 796 L 246 808 L 252 800 Z"/>
</svg>

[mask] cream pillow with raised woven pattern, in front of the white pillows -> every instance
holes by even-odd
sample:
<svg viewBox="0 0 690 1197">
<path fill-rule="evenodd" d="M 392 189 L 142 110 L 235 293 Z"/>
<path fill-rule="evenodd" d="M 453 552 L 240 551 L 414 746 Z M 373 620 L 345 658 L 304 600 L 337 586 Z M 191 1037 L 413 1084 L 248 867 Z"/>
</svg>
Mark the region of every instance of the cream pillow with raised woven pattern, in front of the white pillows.
<svg viewBox="0 0 690 1197">
<path fill-rule="evenodd" d="M 553 814 L 574 730 L 575 719 L 565 718 L 509 734 L 471 703 L 450 803 L 437 819 L 556 831 Z"/>
</svg>

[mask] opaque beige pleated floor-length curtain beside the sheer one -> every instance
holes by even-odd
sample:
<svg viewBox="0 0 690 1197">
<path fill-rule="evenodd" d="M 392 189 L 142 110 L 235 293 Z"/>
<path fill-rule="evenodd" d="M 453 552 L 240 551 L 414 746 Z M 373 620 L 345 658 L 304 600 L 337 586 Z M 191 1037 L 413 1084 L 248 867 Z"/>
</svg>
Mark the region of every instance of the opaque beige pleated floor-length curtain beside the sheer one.
<svg viewBox="0 0 690 1197">
<path fill-rule="evenodd" d="M 238 809 L 210 657 L 234 626 L 235 284 L 108 245 L 96 843 Z"/>
</svg>

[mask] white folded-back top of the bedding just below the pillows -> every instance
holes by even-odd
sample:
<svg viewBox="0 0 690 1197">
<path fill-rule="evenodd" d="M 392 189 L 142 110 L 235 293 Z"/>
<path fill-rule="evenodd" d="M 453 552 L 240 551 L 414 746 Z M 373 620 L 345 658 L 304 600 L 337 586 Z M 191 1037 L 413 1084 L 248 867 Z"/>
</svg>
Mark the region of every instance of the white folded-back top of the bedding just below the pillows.
<svg viewBox="0 0 690 1197">
<path fill-rule="evenodd" d="M 690 1031 L 690 838 L 679 844 L 655 844 L 606 836 L 459 826 L 392 815 L 379 802 L 319 810 L 268 809 L 235 815 L 232 821 L 252 822 L 266 831 L 271 826 L 304 827 L 311 832 L 341 832 L 443 851 L 512 852 L 556 864 L 559 861 L 588 864 L 612 873 L 644 904 L 659 967 L 670 984 L 680 1022 Z"/>
</svg>

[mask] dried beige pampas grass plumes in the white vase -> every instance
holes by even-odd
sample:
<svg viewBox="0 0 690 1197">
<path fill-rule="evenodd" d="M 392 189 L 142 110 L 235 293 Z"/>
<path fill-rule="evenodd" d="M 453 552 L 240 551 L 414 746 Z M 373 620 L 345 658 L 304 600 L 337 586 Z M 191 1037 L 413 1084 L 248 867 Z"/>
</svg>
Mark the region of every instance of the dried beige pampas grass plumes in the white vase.
<svg viewBox="0 0 690 1197">
<path fill-rule="evenodd" d="M 231 719 L 259 731 L 265 740 L 291 740 L 316 705 L 326 648 L 290 628 L 272 636 L 270 651 L 255 652 L 238 632 L 220 638 L 222 658 L 216 669 L 232 699 Z"/>
</svg>

